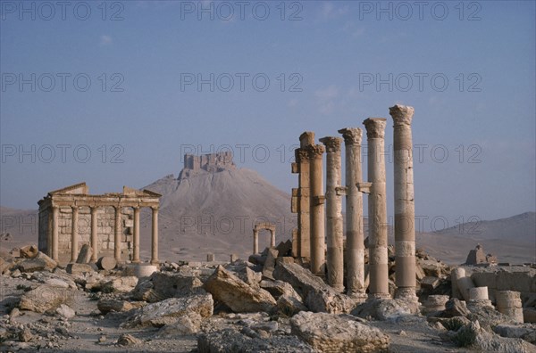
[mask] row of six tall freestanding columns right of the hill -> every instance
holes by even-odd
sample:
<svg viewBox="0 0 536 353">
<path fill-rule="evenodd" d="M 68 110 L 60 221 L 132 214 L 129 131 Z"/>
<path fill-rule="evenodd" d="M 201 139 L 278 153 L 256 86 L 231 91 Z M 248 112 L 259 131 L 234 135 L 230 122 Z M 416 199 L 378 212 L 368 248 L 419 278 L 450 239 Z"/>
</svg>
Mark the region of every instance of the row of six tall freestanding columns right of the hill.
<svg viewBox="0 0 536 353">
<path fill-rule="evenodd" d="M 398 298 L 415 299 L 415 201 L 413 185 L 413 154 L 411 121 L 412 107 L 395 105 L 389 108 L 394 122 L 394 190 L 395 190 L 395 252 L 396 284 Z M 364 120 L 368 153 L 368 182 L 362 181 L 361 139 L 362 130 L 348 127 L 339 130 L 345 142 L 346 187 L 341 186 L 341 160 L 339 137 L 327 136 L 320 139 L 327 152 L 326 193 L 322 193 L 322 145 L 314 144 L 314 134 L 306 135 L 306 145 L 297 149 L 298 185 L 298 256 L 305 258 L 302 240 L 310 237 L 311 271 L 323 275 L 327 265 L 328 283 L 343 291 L 343 238 L 341 195 L 347 198 L 347 291 L 348 295 L 364 299 L 364 232 L 363 197 L 369 193 L 369 296 L 389 297 L 388 268 L 388 223 L 385 173 L 385 127 L 386 119 Z M 307 152 L 307 159 L 304 158 Z M 308 164 L 308 165 L 307 165 Z M 307 168 L 308 167 L 308 168 Z M 308 171 L 308 175 L 306 172 Z M 306 177 L 308 176 L 308 177 Z M 304 180 L 308 179 L 308 180 Z M 309 182 L 307 185 L 306 182 Z M 308 189 L 305 189 L 308 186 Z M 302 195 L 307 194 L 310 199 Z M 327 215 L 327 263 L 324 257 L 324 200 Z M 309 215 L 303 205 L 309 202 Z M 305 232 L 304 218 L 310 218 L 310 232 Z"/>
</svg>

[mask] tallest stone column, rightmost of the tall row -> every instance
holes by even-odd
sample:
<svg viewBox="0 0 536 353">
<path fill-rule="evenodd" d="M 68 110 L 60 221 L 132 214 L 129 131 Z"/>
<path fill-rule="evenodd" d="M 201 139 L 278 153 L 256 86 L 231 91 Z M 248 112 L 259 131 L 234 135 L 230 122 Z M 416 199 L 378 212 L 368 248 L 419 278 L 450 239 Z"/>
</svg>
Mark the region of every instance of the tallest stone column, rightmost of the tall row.
<svg viewBox="0 0 536 353">
<path fill-rule="evenodd" d="M 395 172 L 395 283 L 397 298 L 415 294 L 415 199 L 411 120 L 414 108 L 395 105 L 389 108 L 394 122 L 393 150 Z"/>
</svg>

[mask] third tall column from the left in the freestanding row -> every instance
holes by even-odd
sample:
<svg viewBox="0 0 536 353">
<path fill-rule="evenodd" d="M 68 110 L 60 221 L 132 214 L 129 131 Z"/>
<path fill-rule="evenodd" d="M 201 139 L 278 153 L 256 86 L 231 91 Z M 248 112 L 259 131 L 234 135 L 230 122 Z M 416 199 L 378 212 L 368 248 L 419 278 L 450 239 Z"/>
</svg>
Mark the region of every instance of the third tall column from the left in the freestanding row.
<svg viewBox="0 0 536 353">
<path fill-rule="evenodd" d="M 328 283 L 336 291 L 344 290 L 344 254 L 342 242 L 342 200 L 340 176 L 340 137 L 323 137 L 326 146 L 326 216 Z"/>
</svg>

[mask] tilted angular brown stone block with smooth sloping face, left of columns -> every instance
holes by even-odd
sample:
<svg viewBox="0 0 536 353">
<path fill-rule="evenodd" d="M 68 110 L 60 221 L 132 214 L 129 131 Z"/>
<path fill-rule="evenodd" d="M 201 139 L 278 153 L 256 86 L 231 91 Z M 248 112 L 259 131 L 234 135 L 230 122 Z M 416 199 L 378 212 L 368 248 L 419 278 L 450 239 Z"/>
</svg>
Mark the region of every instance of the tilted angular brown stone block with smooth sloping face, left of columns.
<svg viewBox="0 0 536 353">
<path fill-rule="evenodd" d="M 268 291 L 252 288 L 222 266 L 206 280 L 204 288 L 234 312 L 270 312 L 276 305 Z"/>
</svg>

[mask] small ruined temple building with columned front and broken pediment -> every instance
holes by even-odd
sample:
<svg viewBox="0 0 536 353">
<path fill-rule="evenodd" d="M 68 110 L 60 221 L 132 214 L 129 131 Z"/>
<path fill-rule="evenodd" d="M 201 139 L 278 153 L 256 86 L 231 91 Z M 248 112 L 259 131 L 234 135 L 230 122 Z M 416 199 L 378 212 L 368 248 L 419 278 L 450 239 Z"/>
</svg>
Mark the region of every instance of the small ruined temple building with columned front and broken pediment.
<svg viewBox="0 0 536 353">
<path fill-rule="evenodd" d="M 159 193 L 123 186 L 122 193 L 89 194 L 86 183 L 47 193 L 38 201 L 38 247 L 52 259 L 74 262 L 89 244 L 92 261 L 110 255 L 139 262 L 139 212 L 152 209 L 151 263 L 158 263 Z"/>
</svg>

